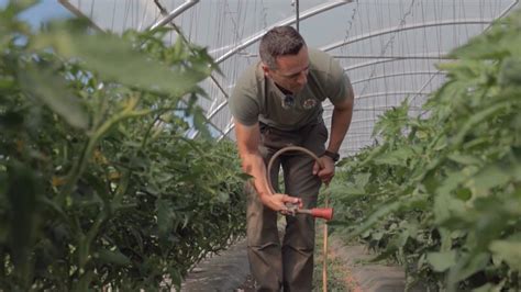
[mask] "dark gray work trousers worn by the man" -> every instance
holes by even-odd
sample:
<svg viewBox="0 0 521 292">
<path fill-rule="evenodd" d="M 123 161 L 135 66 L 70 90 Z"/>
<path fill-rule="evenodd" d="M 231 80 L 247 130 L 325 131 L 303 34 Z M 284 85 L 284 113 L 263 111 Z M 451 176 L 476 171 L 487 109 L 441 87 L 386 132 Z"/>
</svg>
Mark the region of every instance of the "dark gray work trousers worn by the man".
<svg viewBox="0 0 521 292">
<path fill-rule="evenodd" d="M 271 156 L 286 146 L 302 146 L 317 156 L 325 150 L 328 130 L 322 121 L 299 131 L 284 132 L 260 126 L 262 148 L 267 166 Z M 282 167 L 285 193 L 302 199 L 303 207 L 317 206 L 321 180 L 313 176 L 314 159 L 301 151 L 288 151 L 274 161 L 270 179 L 279 191 Z M 269 170 L 268 170 L 269 171 Z M 313 276 L 314 218 L 298 214 L 286 216 L 280 247 L 277 213 L 263 205 L 252 184 L 247 184 L 247 254 L 257 291 L 311 291 Z"/>
</svg>

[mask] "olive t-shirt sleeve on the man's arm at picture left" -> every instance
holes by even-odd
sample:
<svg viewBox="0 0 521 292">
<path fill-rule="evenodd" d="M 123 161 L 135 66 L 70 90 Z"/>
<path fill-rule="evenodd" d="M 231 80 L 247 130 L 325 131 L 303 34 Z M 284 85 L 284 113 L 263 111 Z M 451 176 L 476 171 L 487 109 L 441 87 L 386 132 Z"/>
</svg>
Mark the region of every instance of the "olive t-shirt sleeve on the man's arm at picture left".
<svg viewBox="0 0 521 292">
<path fill-rule="evenodd" d="M 252 89 L 245 88 L 244 80 L 240 80 L 229 100 L 231 114 L 236 121 L 246 126 L 258 122 L 259 105 L 253 94 Z"/>
</svg>

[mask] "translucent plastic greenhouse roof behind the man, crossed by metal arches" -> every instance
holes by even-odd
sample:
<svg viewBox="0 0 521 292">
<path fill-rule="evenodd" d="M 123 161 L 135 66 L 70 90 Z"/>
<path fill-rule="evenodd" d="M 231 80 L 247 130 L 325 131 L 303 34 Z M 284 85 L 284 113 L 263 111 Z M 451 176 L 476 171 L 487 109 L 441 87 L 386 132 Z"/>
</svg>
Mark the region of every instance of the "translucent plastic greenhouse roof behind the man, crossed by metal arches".
<svg viewBox="0 0 521 292">
<path fill-rule="evenodd" d="M 199 103 L 220 138 L 234 139 L 226 106 L 235 79 L 257 59 L 258 38 L 270 27 L 298 26 L 311 47 L 339 59 L 355 91 L 351 128 L 342 155 L 373 145 L 374 123 L 386 110 L 410 101 L 422 114 L 429 93 L 444 81 L 435 64 L 446 54 L 513 10 L 519 0 L 59 0 L 103 31 L 180 27 L 191 42 L 208 47 L 223 75 L 202 87 Z M 298 15 L 298 21 L 297 21 Z M 166 42 L 176 41 L 173 31 Z M 324 103 L 326 124 L 332 114 Z"/>
</svg>

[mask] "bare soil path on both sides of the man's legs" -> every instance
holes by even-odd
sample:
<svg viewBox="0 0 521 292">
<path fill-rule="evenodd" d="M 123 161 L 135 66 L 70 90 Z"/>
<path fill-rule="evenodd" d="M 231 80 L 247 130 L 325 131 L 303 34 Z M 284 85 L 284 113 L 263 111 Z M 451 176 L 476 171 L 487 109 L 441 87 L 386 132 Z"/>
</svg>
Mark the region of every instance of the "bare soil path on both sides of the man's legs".
<svg viewBox="0 0 521 292">
<path fill-rule="evenodd" d="M 320 236 L 321 227 L 317 235 Z M 321 238 L 317 240 L 314 291 L 322 291 Z M 395 266 L 369 263 L 373 257 L 364 246 L 346 246 L 334 235 L 329 237 L 328 291 L 404 291 L 404 272 Z M 230 249 L 201 261 L 185 280 L 181 291 L 252 292 L 254 281 L 250 276 L 245 240 Z M 423 291 L 415 289 L 413 291 Z"/>
</svg>

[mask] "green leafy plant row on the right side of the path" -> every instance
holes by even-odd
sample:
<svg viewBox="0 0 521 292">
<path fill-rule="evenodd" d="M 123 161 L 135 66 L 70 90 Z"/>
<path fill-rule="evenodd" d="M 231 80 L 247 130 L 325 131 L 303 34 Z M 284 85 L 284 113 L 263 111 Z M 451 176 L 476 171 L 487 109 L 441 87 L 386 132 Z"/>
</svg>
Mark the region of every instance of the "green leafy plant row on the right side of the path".
<svg viewBox="0 0 521 292">
<path fill-rule="evenodd" d="M 521 13 L 455 49 L 447 81 L 375 127 L 379 145 L 342 162 L 332 186 L 337 233 L 433 291 L 519 291 Z"/>
</svg>

